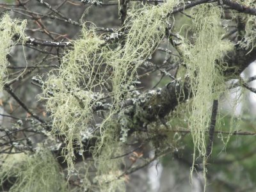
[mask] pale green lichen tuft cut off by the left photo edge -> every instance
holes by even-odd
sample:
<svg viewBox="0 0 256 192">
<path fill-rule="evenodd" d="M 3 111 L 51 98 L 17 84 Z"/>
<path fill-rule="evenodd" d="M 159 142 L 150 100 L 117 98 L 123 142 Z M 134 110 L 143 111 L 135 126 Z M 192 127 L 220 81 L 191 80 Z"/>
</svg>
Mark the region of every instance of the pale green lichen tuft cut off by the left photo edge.
<svg viewBox="0 0 256 192">
<path fill-rule="evenodd" d="M 12 20 L 5 14 L 0 20 L 0 92 L 8 79 L 7 66 L 9 62 L 6 55 L 10 52 L 10 46 L 25 40 L 26 20 Z M 15 39 L 15 40 L 14 40 Z"/>
</svg>

